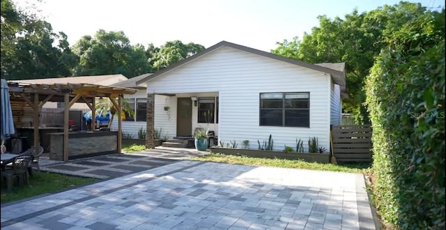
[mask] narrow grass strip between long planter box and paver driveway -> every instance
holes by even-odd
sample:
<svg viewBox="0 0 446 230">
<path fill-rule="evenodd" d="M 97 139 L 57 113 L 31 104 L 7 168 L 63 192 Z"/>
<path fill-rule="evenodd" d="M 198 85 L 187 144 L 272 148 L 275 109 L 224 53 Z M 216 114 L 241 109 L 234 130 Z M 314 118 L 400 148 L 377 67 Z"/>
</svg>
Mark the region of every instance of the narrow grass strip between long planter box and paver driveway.
<svg viewBox="0 0 446 230">
<path fill-rule="evenodd" d="M 192 158 L 192 160 L 223 162 L 229 164 L 248 164 L 256 166 L 282 167 L 293 169 L 312 169 L 323 171 L 344 171 L 351 173 L 365 173 L 370 170 L 369 163 L 350 164 L 324 164 L 316 162 L 305 162 L 303 160 L 284 160 L 267 158 L 249 158 L 247 156 L 224 155 L 220 153 L 210 153 L 209 155 Z"/>
</svg>

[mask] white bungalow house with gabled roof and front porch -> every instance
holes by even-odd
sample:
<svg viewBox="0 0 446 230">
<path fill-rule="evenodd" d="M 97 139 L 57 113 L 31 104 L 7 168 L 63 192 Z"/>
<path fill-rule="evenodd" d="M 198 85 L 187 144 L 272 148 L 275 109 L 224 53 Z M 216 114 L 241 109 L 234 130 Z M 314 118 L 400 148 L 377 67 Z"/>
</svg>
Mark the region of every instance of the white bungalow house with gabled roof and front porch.
<svg viewBox="0 0 446 230">
<path fill-rule="evenodd" d="M 169 137 L 191 137 L 205 128 L 218 141 L 236 141 L 239 147 L 249 140 L 256 149 L 257 141 L 272 135 L 275 150 L 295 147 L 296 139 L 307 150 L 309 137 L 317 137 L 329 151 L 330 125 L 341 123 L 344 66 L 295 61 L 222 41 L 134 82 L 146 87 L 141 99 L 147 100 L 146 145 L 153 146 L 153 128 Z"/>
</svg>

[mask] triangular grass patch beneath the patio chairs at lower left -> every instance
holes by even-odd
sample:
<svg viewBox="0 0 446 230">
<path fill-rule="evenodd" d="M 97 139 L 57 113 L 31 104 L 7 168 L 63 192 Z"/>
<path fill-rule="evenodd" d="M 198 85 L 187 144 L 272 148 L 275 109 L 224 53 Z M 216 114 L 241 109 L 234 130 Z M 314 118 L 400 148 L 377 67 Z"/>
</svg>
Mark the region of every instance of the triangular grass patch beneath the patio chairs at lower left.
<svg viewBox="0 0 446 230">
<path fill-rule="evenodd" d="M 17 183 L 15 183 L 13 190 L 6 192 L 6 180 L 1 178 L 1 204 L 36 197 L 45 193 L 58 192 L 95 181 L 99 181 L 99 179 L 54 174 L 45 171 L 41 171 L 39 174 L 34 171 L 33 176 L 29 177 L 29 186 L 21 184 L 20 187 L 17 187 Z"/>
</svg>

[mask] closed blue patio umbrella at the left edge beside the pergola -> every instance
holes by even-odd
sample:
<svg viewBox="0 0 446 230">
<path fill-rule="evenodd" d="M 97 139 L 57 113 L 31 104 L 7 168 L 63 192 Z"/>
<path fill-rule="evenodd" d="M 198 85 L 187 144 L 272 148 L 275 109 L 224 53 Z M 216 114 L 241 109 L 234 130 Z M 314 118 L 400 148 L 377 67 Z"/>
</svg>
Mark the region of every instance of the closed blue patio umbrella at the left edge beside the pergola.
<svg viewBox="0 0 446 230">
<path fill-rule="evenodd" d="M 1 142 L 15 134 L 13 110 L 9 100 L 9 88 L 6 79 L 1 79 Z"/>
</svg>

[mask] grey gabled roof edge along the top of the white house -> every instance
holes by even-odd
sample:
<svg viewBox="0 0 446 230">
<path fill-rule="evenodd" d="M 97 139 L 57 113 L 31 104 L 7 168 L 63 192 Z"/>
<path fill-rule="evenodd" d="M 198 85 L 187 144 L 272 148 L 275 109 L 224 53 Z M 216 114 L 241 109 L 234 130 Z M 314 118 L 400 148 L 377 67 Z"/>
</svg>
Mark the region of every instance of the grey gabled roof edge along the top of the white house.
<svg viewBox="0 0 446 230">
<path fill-rule="evenodd" d="M 321 72 L 326 72 L 328 74 L 330 74 L 332 76 L 332 79 L 334 81 L 335 84 L 339 84 L 339 86 L 341 86 L 341 91 L 345 91 L 345 86 L 346 86 L 346 74 L 345 71 L 341 71 L 341 69 L 345 70 L 345 63 L 321 63 L 321 64 L 310 64 L 310 63 L 306 63 L 303 61 L 297 61 L 294 59 L 289 59 L 286 58 L 284 56 L 279 56 L 277 54 L 272 54 L 272 53 L 268 53 L 268 52 L 264 52 L 261 51 L 259 49 L 253 49 L 250 47 L 245 47 L 243 45 L 237 45 L 234 43 L 229 43 L 226 41 L 221 41 L 220 43 L 217 43 L 211 47 L 208 47 L 207 49 L 202 50 L 201 52 L 194 54 L 193 56 L 188 57 L 187 59 L 183 59 L 181 61 L 178 61 L 174 64 L 172 64 L 171 66 L 168 66 L 162 70 L 159 70 L 157 72 L 155 72 L 153 75 L 148 75 L 142 79 L 139 79 L 136 84 L 141 84 L 144 82 L 148 82 L 151 79 L 154 79 L 155 77 L 158 77 L 160 75 L 162 75 L 165 72 L 169 72 L 170 70 L 174 70 L 175 68 L 178 68 L 180 66 L 185 65 L 186 63 L 189 63 L 190 61 L 193 61 L 194 59 L 199 58 L 200 56 L 203 56 L 205 54 L 208 54 L 210 52 L 213 52 L 216 49 L 219 49 L 220 47 L 232 47 L 233 49 L 239 49 L 245 52 L 249 52 L 252 54 L 258 54 L 261 56 L 266 56 L 270 59 L 276 59 L 279 61 L 284 61 L 287 63 L 291 63 L 294 64 L 296 66 L 302 66 L 305 68 L 309 68 L 312 70 L 317 70 L 317 71 L 321 71 Z M 342 68 L 342 66 L 344 66 L 344 68 Z"/>
</svg>

